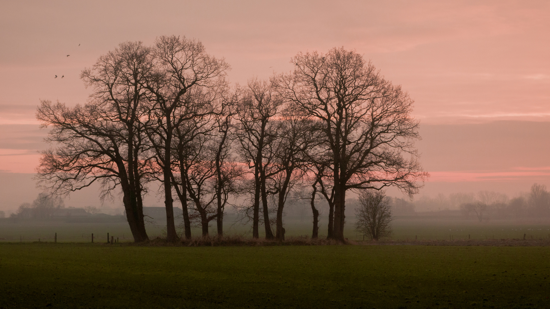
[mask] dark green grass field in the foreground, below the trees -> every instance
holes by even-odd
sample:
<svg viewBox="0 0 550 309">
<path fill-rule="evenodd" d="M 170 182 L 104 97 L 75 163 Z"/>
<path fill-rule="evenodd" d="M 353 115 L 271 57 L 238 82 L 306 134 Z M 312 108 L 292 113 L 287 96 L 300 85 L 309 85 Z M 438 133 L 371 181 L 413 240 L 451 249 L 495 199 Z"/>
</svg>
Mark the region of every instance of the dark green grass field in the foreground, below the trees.
<svg viewBox="0 0 550 309">
<path fill-rule="evenodd" d="M 3 308 L 549 308 L 550 247 L 0 244 Z"/>
</svg>

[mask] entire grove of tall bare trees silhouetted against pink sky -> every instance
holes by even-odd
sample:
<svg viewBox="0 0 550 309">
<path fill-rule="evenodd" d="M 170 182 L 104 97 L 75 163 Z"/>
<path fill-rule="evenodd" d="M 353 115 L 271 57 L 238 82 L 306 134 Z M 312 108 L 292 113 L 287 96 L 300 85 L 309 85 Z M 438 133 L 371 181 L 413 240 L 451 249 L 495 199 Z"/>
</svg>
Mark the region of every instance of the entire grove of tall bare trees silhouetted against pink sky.
<svg viewBox="0 0 550 309">
<path fill-rule="evenodd" d="M 82 71 L 89 101 L 68 107 L 43 100 L 36 117 L 50 128 L 41 185 L 67 195 L 93 183 L 102 198 L 117 189 L 135 241 L 149 239 L 143 198 L 161 189 L 167 240 L 179 238 L 174 198 L 183 208 L 183 237 L 200 225 L 208 235 L 235 206 L 259 238 L 284 239 L 283 212 L 299 192 L 329 205 L 328 238 L 345 241 L 349 190 L 397 186 L 417 192 L 427 173 L 414 141 L 413 101 L 355 51 L 299 53 L 294 70 L 270 80 L 230 85 L 229 64 L 201 42 L 161 36 L 152 46 L 124 42 Z M 160 188 L 157 188 L 161 184 Z M 244 202 L 233 205 L 235 197 Z"/>
</svg>

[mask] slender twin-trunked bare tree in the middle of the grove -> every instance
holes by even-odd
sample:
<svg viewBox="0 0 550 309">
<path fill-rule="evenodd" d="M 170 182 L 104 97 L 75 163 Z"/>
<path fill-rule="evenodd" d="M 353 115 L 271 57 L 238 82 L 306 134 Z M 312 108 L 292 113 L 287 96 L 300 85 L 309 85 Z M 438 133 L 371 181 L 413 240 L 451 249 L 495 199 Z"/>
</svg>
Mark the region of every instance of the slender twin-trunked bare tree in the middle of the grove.
<svg viewBox="0 0 550 309">
<path fill-rule="evenodd" d="M 252 237 L 259 238 L 260 199 L 262 201 L 263 225 L 266 239 L 273 239 L 267 195 L 267 183 L 273 175 L 279 173 L 273 167 L 274 147 L 279 139 L 279 122 L 273 121 L 279 113 L 281 100 L 273 91 L 270 82 L 252 79 L 241 90 L 243 98 L 237 107 L 235 134 L 239 142 L 237 152 L 254 169 L 254 204 L 252 205 Z"/>
</svg>

